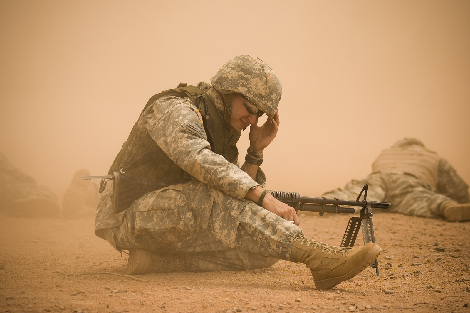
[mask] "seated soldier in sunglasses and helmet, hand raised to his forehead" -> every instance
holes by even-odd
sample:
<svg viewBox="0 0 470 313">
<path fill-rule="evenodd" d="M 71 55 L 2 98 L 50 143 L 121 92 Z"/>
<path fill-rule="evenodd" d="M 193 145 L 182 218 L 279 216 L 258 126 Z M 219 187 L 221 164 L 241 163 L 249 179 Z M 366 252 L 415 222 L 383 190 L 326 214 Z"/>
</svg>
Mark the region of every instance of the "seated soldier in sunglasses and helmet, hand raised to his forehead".
<svg viewBox="0 0 470 313">
<path fill-rule="evenodd" d="M 263 150 L 276 136 L 281 83 L 263 61 L 228 61 L 211 84 L 180 84 L 152 97 L 110 168 L 167 185 L 122 212 L 113 211 L 113 181 L 102 182 L 95 233 L 129 250 L 128 274 L 248 270 L 278 260 L 303 262 L 318 289 L 368 267 L 374 243 L 337 248 L 306 238 L 295 210 L 262 186 Z M 266 122 L 258 126 L 258 117 Z M 235 146 L 250 127 L 241 168 Z"/>
</svg>

